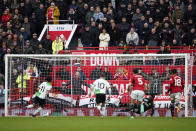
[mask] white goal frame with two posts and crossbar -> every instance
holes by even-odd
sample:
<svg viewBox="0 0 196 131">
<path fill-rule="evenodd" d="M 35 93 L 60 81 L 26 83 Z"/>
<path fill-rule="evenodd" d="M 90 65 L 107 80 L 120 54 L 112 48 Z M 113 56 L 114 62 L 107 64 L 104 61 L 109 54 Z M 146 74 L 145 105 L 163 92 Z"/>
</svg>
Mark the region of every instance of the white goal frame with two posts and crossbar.
<svg viewBox="0 0 196 131">
<path fill-rule="evenodd" d="M 183 57 L 185 58 L 185 117 L 189 117 L 188 111 L 188 92 L 192 89 L 192 80 L 191 83 L 188 83 L 188 69 L 189 63 L 188 60 L 190 59 L 190 54 L 182 53 L 182 54 L 92 54 L 92 55 L 37 55 L 37 54 L 7 54 L 5 56 L 5 116 L 8 116 L 8 58 L 9 57 L 18 57 L 18 58 L 25 58 L 25 57 L 53 57 L 53 58 L 63 58 L 63 57 L 70 57 L 71 65 L 72 60 L 75 57 Z M 192 62 L 191 62 L 192 64 Z M 191 65 L 192 68 L 192 65 Z M 192 72 L 191 72 L 192 74 Z M 72 77 L 72 75 L 71 75 Z"/>
</svg>

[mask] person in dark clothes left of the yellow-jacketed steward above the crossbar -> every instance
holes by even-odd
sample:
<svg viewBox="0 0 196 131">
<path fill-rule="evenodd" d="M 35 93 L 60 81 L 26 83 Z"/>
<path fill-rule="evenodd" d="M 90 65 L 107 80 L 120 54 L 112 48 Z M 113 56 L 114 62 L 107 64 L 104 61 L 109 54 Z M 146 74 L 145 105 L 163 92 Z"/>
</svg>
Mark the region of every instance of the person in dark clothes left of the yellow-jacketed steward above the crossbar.
<svg viewBox="0 0 196 131">
<path fill-rule="evenodd" d="M 52 40 L 50 39 L 50 35 L 47 34 L 46 38 L 41 42 L 43 44 L 43 48 L 46 50 L 47 53 L 52 53 Z"/>
</svg>

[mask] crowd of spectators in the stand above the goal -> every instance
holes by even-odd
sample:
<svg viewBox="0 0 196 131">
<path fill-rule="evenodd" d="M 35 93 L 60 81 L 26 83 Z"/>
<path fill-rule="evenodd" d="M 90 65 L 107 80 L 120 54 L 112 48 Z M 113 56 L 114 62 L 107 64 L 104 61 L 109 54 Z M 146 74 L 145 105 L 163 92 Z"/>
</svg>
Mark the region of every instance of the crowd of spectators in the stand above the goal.
<svg viewBox="0 0 196 131">
<path fill-rule="evenodd" d="M 2 0 L 0 73 L 5 54 L 52 54 L 50 35 L 38 41 L 47 20 L 74 20 L 84 47 L 196 45 L 193 0 Z M 58 21 L 49 21 L 58 24 Z M 56 46 L 54 46 L 56 47 Z"/>
</svg>

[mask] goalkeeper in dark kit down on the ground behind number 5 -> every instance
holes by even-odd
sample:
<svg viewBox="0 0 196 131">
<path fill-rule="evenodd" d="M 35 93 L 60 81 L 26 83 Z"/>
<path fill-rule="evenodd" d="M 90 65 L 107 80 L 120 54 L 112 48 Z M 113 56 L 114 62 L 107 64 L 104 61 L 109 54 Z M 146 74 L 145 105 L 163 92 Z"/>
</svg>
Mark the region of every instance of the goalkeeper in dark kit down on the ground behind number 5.
<svg viewBox="0 0 196 131">
<path fill-rule="evenodd" d="M 140 106 L 137 104 L 134 104 L 134 113 L 137 114 L 142 114 L 148 110 L 152 109 L 151 111 L 151 116 L 154 114 L 154 95 L 149 95 L 147 98 L 144 98 L 143 102 L 141 103 Z M 116 112 L 129 112 L 130 109 L 122 109 L 122 110 L 117 110 Z"/>
</svg>

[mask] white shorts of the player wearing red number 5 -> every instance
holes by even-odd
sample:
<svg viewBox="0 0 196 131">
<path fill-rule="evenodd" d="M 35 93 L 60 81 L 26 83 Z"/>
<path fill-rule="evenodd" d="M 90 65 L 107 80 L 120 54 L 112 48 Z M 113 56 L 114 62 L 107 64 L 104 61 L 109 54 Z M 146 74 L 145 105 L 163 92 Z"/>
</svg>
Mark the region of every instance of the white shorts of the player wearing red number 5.
<svg viewBox="0 0 196 131">
<path fill-rule="evenodd" d="M 138 101 L 142 102 L 144 99 L 144 95 L 145 95 L 144 91 L 133 90 L 131 92 L 131 99 L 138 100 Z"/>
</svg>

